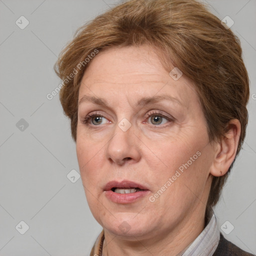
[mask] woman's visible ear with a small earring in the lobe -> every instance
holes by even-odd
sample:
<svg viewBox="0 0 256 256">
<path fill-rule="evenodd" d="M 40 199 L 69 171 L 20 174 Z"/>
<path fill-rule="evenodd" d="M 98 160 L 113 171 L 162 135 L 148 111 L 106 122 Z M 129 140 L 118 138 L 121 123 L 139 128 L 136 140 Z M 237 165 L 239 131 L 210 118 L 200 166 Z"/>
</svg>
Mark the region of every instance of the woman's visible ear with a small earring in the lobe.
<svg viewBox="0 0 256 256">
<path fill-rule="evenodd" d="M 237 145 L 241 132 L 241 124 L 237 119 L 231 119 L 226 128 L 226 133 L 216 142 L 210 174 L 222 176 L 230 167 L 235 158 Z"/>
</svg>

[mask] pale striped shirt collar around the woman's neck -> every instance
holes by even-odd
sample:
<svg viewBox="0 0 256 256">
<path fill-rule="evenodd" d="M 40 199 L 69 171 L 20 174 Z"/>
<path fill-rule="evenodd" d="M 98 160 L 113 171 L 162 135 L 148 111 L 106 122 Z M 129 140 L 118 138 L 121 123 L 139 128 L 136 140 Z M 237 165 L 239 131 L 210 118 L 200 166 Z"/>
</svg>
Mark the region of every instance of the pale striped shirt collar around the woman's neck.
<svg viewBox="0 0 256 256">
<path fill-rule="evenodd" d="M 206 218 L 206 226 L 201 233 L 176 256 L 212 256 L 219 242 L 219 230 L 217 228 L 216 216 L 212 209 Z M 104 241 L 104 230 L 98 235 L 90 256 L 102 256 Z"/>
</svg>

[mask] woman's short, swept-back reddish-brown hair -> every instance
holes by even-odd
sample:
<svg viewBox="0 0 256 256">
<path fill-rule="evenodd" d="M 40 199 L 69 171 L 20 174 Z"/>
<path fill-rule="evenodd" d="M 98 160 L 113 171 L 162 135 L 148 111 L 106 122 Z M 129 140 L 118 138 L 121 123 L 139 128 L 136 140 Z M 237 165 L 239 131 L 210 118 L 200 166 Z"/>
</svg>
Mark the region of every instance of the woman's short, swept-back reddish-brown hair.
<svg viewBox="0 0 256 256">
<path fill-rule="evenodd" d="M 148 44 L 171 66 L 195 83 L 207 121 L 209 140 L 225 133 L 230 119 L 241 124 L 236 156 L 245 137 L 249 80 L 239 39 L 206 7 L 195 0 L 129 0 L 80 27 L 62 50 L 54 70 L 64 80 L 95 49 Z M 89 64 L 89 63 L 88 63 Z M 84 64 L 60 90 L 60 101 L 71 120 L 76 141 L 78 90 Z M 213 177 L 207 206 L 219 199 L 228 172 Z"/>
</svg>

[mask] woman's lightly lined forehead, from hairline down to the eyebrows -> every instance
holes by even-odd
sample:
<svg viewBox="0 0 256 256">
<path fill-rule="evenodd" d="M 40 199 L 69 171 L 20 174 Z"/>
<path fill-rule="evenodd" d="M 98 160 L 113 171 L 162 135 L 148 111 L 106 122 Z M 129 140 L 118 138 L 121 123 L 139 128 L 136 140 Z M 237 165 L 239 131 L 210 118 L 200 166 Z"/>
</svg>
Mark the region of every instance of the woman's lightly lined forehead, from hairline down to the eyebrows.
<svg viewBox="0 0 256 256">
<path fill-rule="evenodd" d="M 139 99 L 169 94 L 187 105 L 197 101 L 194 86 L 182 75 L 174 80 L 164 69 L 157 52 L 147 45 L 113 47 L 99 52 L 85 70 L 79 88 L 83 95 Z M 172 68 L 172 67 L 171 67 Z M 142 95 L 141 95 L 142 94 Z"/>
</svg>

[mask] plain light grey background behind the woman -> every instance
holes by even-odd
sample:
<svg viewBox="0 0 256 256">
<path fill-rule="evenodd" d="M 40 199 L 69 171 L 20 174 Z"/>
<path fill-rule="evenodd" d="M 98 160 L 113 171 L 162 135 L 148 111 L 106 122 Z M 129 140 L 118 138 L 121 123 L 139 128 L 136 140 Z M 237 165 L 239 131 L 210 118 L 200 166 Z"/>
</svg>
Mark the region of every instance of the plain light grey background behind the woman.
<svg viewBox="0 0 256 256">
<path fill-rule="evenodd" d="M 234 226 L 225 237 L 256 253 L 256 1 L 207 2 L 220 19 L 234 20 L 251 86 L 245 142 L 215 212 L 219 227 L 226 220 Z M 76 28 L 114 3 L 0 0 L 1 256 L 88 255 L 101 231 L 81 179 L 67 178 L 72 169 L 79 173 L 75 144 L 58 95 L 48 100 L 46 94 L 60 83 L 53 64 L 61 48 Z M 21 15 L 29 21 L 24 29 L 15 24 Z M 28 127 L 20 126 L 21 118 Z M 24 234 L 21 220 L 29 226 Z"/>
</svg>

